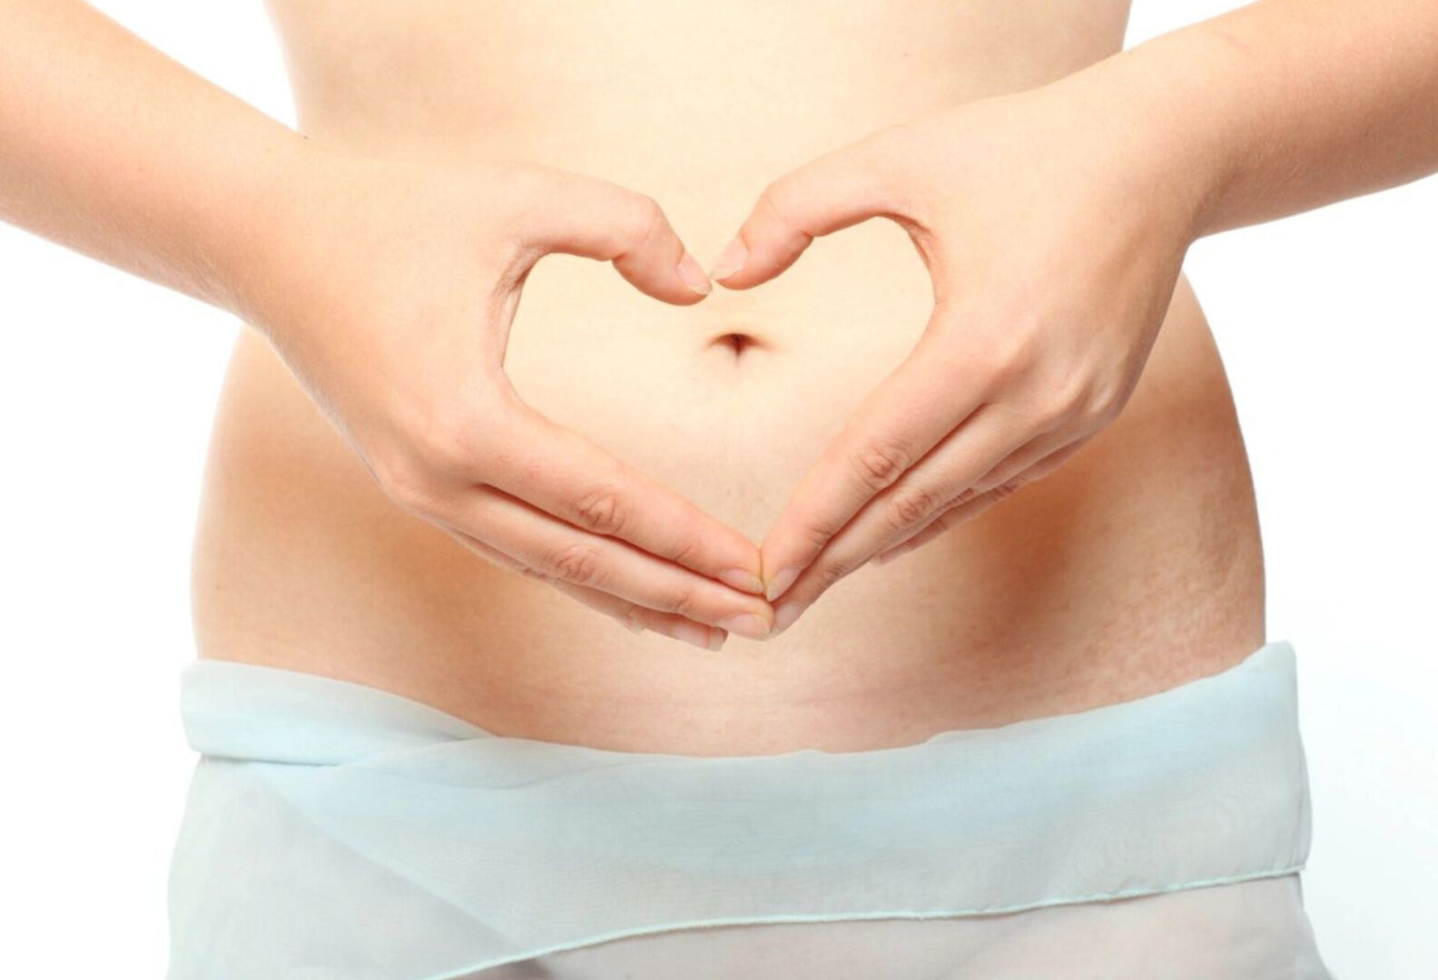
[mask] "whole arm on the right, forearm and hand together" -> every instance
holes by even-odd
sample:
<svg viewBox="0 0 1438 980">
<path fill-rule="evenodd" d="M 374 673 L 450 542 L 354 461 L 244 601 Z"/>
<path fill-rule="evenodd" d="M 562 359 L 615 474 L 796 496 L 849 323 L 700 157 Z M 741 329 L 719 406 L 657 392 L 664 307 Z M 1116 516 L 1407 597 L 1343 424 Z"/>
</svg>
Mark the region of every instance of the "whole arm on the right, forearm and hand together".
<svg viewBox="0 0 1438 980">
<path fill-rule="evenodd" d="M 769 184 L 716 259 L 722 285 L 765 283 L 814 237 L 883 216 L 936 300 L 761 546 L 775 635 L 1117 418 L 1196 239 L 1432 172 L 1435 26 L 1426 3 L 1255 3 Z M 1025 221 L 1035 201 L 1045 220 Z"/>
</svg>

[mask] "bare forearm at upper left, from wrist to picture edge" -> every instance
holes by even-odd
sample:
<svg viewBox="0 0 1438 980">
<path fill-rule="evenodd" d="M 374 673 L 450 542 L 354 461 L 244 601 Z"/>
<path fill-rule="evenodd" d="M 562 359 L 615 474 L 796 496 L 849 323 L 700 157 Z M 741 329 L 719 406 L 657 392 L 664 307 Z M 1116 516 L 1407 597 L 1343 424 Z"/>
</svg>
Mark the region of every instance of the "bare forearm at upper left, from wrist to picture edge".
<svg viewBox="0 0 1438 980">
<path fill-rule="evenodd" d="M 78 0 L 0 37 L 0 218 L 236 312 L 305 139 Z"/>
</svg>

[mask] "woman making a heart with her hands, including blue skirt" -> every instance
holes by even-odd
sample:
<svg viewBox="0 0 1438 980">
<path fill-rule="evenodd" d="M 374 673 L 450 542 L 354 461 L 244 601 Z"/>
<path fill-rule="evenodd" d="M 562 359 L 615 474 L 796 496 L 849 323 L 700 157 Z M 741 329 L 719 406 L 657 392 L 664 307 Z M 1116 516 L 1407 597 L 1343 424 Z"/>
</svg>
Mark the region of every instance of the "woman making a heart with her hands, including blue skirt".
<svg viewBox="0 0 1438 980">
<path fill-rule="evenodd" d="M 1326 976 L 1181 266 L 1438 168 L 1333 7 L 276 0 L 293 134 L 12 4 L 7 220 L 253 328 L 171 976 Z"/>
</svg>

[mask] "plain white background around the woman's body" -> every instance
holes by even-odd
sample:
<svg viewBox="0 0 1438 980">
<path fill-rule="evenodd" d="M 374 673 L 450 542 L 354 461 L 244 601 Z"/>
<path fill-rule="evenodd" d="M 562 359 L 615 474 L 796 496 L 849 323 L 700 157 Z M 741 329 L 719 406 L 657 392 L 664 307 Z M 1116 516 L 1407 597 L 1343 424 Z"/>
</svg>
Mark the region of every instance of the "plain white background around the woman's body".
<svg viewBox="0 0 1438 980">
<path fill-rule="evenodd" d="M 293 122 L 260 0 L 98 6 Z M 1137 0 L 1129 45 L 1234 6 Z M 1188 262 L 1254 468 L 1268 637 L 1300 658 L 1304 894 L 1343 979 L 1438 976 L 1435 227 L 1429 178 Z M 22 902 L 6 960 L 158 977 L 194 762 L 177 707 L 190 537 L 239 325 L 6 226 L 0 289 L 0 866 Z"/>
</svg>

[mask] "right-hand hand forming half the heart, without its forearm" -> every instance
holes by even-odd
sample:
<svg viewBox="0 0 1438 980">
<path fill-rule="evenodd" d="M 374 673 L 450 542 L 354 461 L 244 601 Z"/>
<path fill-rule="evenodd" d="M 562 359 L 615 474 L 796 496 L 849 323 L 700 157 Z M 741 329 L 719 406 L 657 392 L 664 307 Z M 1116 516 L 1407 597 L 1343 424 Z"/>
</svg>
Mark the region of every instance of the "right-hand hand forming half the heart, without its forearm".
<svg viewBox="0 0 1438 980">
<path fill-rule="evenodd" d="M 933 282 L 912 353 L 759 549 L 768 598 L 784 596 L 775 634 L 871 558 L 1051 473 L 1127 402 L 1196 203 L 1165 182 L 1136 126 L 1086 106 L 1053 86 L 881 129 L 769 184 L 720 253 L 713 279 L 749 289 L 815 236 L 887 217 Z"/>
</svg>

